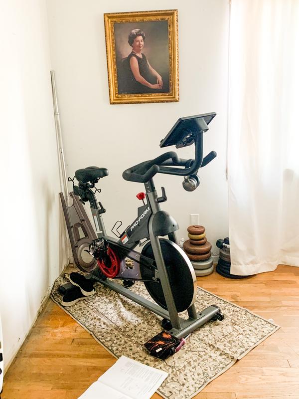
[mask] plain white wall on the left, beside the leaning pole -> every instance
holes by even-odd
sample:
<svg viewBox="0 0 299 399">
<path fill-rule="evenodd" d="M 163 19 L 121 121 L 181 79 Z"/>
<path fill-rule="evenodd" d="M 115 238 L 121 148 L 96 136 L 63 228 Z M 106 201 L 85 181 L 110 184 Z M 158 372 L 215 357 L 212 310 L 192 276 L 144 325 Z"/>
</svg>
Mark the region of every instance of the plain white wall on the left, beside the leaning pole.
<svg viewBox="0 0 299 399">
<path fill-rule="evenodd" d="M 7 366 L 64 260 L 45 1 L 2 1 L 0 15 L 0 313 Z"/>
</svg>

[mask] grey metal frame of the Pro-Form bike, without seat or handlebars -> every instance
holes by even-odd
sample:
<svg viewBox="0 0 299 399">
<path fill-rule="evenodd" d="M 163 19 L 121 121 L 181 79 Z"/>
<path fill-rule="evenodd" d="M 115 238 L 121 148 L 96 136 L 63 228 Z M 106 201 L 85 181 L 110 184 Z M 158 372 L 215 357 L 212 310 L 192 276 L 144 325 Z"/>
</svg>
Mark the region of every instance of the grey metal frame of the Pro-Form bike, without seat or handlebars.
<svg viewBox="0 0 299 399">
<path fill-rule="evenodd" d="M 141 239 L 150 239 L 155 263 L 157 266 L 157 275 L 155 277 L 159 278 L 161 282 L 168 311 L 164 310 L 157 304 L 148 301 L 144 297 L 135 294 L 124 286 L 113 282 L 112 280 L 101 280 L 101 278 L 97 277 L 96 271 L 92 274 L 95 280 L 101 282 L 101 284 L 105 285 L 106 287 L 109 287 L 110 289 L 120 293 L 121 295 L 132 299 L 134 302 L 144 306 L 153 313 L 163 317 L 164 319 L 169 320 L 172 324 L 171 333 L 177 338 L 183 338 L 190 334 L 192 331 L 196 330 L 198 327 L 205 324 L 208 320 L 210 320 L 217 312 L 220 311 L 220 308 L 215 305 L 211 305 L 202 310 L 200 313 L 196 312 L 195 305 L 193 303 L 197 292 L 196 276 L 191 262 L 187 258 L 184 251 L 177 245 L 175 231 L 178 229 L 178 224 L 167 212 L 164 212 L 160 209 L 159 202 L 163 201 L 163 199 L 159 199 L 157 197 L 152 179 L 149 180 L 149 182 L 145 183 L 145 189 L 147 204 L 139 208 L 139 210 L 143 212 L 140 213 L 137 219 L 135 219 L 135 221 L 121 234 L 119 240 L 107 236 L 104 221 L 102 218 L 103 211 L 101 208 L 99 208 L 96 197 L 92 191 L 91 193 L 94 200 L 90 200 L 91 212 L 95 221 L 98 238 L 103 237 L 107 239 L 108 242 L 116 242 L 132 250 L 139 244 Z M 166 197 L 164 198 L 164 200 L 166 200 Z M 145 210 L 148 207 L 149 210 L 143 217 L 141 217 L 141 215 L 144 214 Z M 133 231 L 135 230 L 135 228 L 136 231 Z M 169 240 L 173 243 L 173 245 L 177 247 L 177 250 L 185 258 L 187 264 L 190 265 L 190 272 L 192 273 L 192 275 L 194 275 L 194 298 L 191 306 L 187 309 L 189 316 L 187 320 L 179 317 L 175 307 L 167 270 L 162 256 L 159 235 L 168 236 Z"/>
</svg>

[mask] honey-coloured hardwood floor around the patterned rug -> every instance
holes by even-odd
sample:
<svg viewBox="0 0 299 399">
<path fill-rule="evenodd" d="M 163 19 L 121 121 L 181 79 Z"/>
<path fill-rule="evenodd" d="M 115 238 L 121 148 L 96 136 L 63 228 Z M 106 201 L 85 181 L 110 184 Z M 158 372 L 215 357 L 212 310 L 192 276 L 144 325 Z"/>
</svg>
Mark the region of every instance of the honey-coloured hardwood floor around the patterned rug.
<svg viewBox="0 0 299 399">
<path fill-rule="evenodd" d="M 198 285 L 272 318 L 281 329 L 195 398 L 299 399 L 299 268 L 279 266 L 245 280 L 214 272 L 198 278 Z M 49 300 L 4 376 L 2 399 L 77 399 L 115 362 Z"/>
</svg>

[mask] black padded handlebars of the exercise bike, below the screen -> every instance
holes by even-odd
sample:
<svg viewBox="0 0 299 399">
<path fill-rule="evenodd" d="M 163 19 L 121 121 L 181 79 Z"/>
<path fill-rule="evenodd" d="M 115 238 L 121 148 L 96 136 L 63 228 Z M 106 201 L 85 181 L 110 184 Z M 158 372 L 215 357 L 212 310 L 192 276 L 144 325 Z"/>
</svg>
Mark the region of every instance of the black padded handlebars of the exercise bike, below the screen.
<svg viewBox="0 0 299 399">
<path fill-rule="evenodd" d="M 202 133 L 196 135 L 195 139 L 195 158 L 185 160 L 178 158 L 177 154 L 169 151 L 158 157 L 142 162 L 123 172 L 123 178 L 130 182 L 146 183 L 157 173 L 168 175 L 190 176 L 196 174 L 199 168 L 206 166 L 217 156 L 215 151 L 211 151 L 207 156 L 202 156 Z M 184 168 L 177 168 L 178 166 Z"/>
</svg>

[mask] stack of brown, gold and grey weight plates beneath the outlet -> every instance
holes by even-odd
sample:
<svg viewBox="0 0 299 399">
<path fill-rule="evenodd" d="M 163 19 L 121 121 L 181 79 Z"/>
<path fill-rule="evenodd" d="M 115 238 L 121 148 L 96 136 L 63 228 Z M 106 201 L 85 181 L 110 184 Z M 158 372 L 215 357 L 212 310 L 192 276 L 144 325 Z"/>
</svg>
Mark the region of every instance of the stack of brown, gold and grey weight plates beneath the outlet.
<svg viewBox="0 0 299 399">
<path fill-rule="evenodd" d="M 214 269 L 212 245 L 207 241 L 204 226 L 193 225 L 188 227 L 189 239 L 184 242 L 183 248 L 191 260 L 196 276 L 207 276 Z"/>
</svg>

